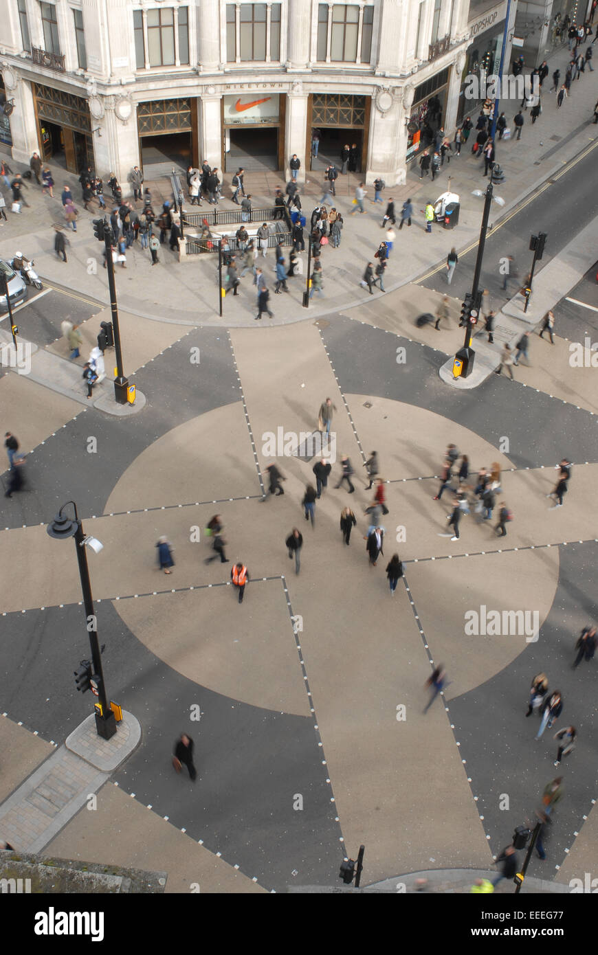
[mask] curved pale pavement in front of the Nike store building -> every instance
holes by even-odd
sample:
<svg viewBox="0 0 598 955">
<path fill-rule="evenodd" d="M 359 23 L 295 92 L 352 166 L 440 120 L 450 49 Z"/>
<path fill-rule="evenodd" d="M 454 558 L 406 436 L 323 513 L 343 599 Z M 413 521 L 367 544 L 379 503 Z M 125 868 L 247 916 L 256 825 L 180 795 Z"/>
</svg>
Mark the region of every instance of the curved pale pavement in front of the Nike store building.
<svg viewBox="0 0 598 955">
<path fill-rule="evenodd" d="M 568 62 L 566 49 L 556 53 L 549 62 L 550 71 L 559 66 L 565 74 Z M 598 76 L 598 71 L 595 71 Z M 545 80 L 545 86 L 548 80 Z M 502 213 L 496 217 L 498 223 L 507 216 L 509 211 L 522 202 L 534 190 L 541 187 L 545 180 L 562 170 L 564 164 L 577 156 L 588 144 L 596 142 L 598 127 L 592 122 L 593 105 L 598 96 L 598 79 L 594 74 L 585 74 L 580 80 L 573 83 L 571 96 L 566 99 L 564 106 L 557 110 L 554 94 L 547 91 L 543 94 L 543 115 L 532 125 L 528 116 L 525 118 L 523 136 L 521 140 L 512 138 L 506 142 L 497 142 L 497 159 L 502 165 L 506 180 L 496 193 L 504 201 Z M 519 108 L 518 102 L 504 101 L 507 119 L 510 119 Z M 49 284 L 58 283 L 68 285 L 81 294 L 91 295 L 98 301 L 108 304 L 108 291 L 104 270 L 99 267 L 101 257 L 99 246 L 93 238 L 91 220 L 97 212 L 87 213 L 80 210 L 78 231 L 69 232 L 71 247 L 69 262 L 64 265 L 53 253 L 53 223 L 61 221 L 60 183 L 64 180 L 71 184 L 78 202 L 79 187 L 74 176 L 64 174 L 54 169 L 56 181 L 55 195 L 51 200 L 41 195 L 41 190 L 33 182 L 26 192 L 26 199 L 31 203 L 31 209 L 25 208 L 21 216 L 11 216 L 9 223 L 3 226 L 0 232 L 0 255 L 12 256 L 15 249 L 15 240 L 35 260 L 40 275 Z M 365 289 L 360 288 L 358 279 L 361 277 L 368 259 L 373 260 L 374 251 L 383 238 L 380 228 L 385 202 L 392 195 L 395 199 L 397 211 L 404 199 L 408 196 L 413 199 L 416 211 L 416 220 L 409 232 L 396 230 L 395 249 L 387 269 L 386 288 L 390 291 L 396 287 L 414 281 L 430 263 L 443 263 L 453 244 L 458 251 L 472 242 L 477 242 L 481 223 L 481 201 L 472 195 L 473 190 L 483 189 L 487 180 L 483 178 L 482 166 L 479 159 L 475 159 L 466 147 L 461 151 L 459 158 L 455 157 L 450 164 L 445 164 L 434 187 L 429 180 L 424 182 L 418 178 L 418 167 L 415 165 L 409 171 L 407 184 L 400 187 L 389 187 L 383 193 L 384 202 L 374 206 L 366 202 L 367 215 L 359 216 L 356 224 L 352 216 L 352 195 L 358 176 L 350 174 L 347 179 L 339 177 L 337 180 L 337 207 L 343 214 L 345 227 L 339 249 L 332 249 L 329 245 L 322 256 L 324 269 L 324 298 L 317 304 L 310 303 L 310 315 L 322 315 L 328 311 L 352 308 L 363 305 L 370 297 Z M 449 183 L 450 177 L 450 183 Z M 304 195 L 305 210 L 308 215 L 311 211 L 311 202 L 321 199 L 321 188 L 317 178 L 308 174 Z M 170 199 L 168 180 L 149 182 L 152 194 L 156 199 Z M 246 174 L 246 191 L 251 192 L 256 207 L 269 205 L 272 201 L 274 188 L 285 183 L 274 173 L 251 172 Z M 425 202 L 431 198 L 436 201 L 438 196 L 447 188 L 457 192 L 460 196 L 461 209 L 459 226 L 456 231 L 435 226 L 433 233 L 428 235 L 424 229 L 423 209 Z M 373 198 L 373 190 L 370 189 Z M 230 189 L 224 188 L 224 195 L 230 196 Z M 221 208 L 235 209 L 230 199 L 224 199 Z M 190 207 L 191 208 L 191 207 Z M 203 206 L 207 208 L 207 206 Z M 210 207 L 211 208 L 211 207 Z M 31 226 L 35 222 L 34 227 Z M 407 238 L 408 236 L 408 238 Z M 365 243 L 364 243 L 365 240 Z M 307 253 L 304 255 L 306 257 Z M 273 275 L 273 253 L 268 253 Z M 251 327 L 254 317 L 254 293 L 251 287 L 250 276 L 242 283 L 242 292 L 236 300 L 226 297 L 224 301 L 224 318 L 218 315 L 219 288 L 214 268 L 213 256 L 191 256 L 188 261 L 178 263 L 175 255 L 165 245 L 160 253 L 160 265 L 151 267 L 148 251 L 134 249 L 129 252 L 127 269 L 117 269 L 117 295 L 120 307 L 130 313 L 140 313 L 147 317 L 154 317 L 165 321 L 167 319 L 189 324 L 200 322 L 202 325 L 216 325 L 222 327 L 224 322 L 228 327 Z M 287 324 L 300 321 L 306 317 L 306 310 L 302 308 L 304 284 L 300 280 L 289 283 L 290 294 L 280 300 L 272 300 L 274 324 Z M 376 295 L 382 295 L 376 292 Z"/>
</svg>

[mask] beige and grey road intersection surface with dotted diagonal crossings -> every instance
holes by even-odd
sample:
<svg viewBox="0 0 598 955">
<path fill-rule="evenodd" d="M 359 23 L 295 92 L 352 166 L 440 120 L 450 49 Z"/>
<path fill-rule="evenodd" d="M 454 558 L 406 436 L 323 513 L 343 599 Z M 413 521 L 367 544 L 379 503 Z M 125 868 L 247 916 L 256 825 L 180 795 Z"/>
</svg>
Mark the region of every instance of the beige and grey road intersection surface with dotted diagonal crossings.
<svg viewBox="0 0 598 955">
<path fill-rule="evenodd" d="M 566 105 L 582 110 L 576 96 Z M 580 135 L 563 149 L 579 152 Z M 58 265 L 65 274 L 71 263 Z M 117 279 L 128 283 L 132 273 Z M 567 271 L 566 283 L 575 274 Z M 107 314 L 96 281 L 92 270 L 85 292 L 75 285 L 61 299 L 53 290 L 20 312 L 38 351 L 62 363 L 66 385 L 80 369 L 67 362 L 55 323 L 40 319 L 36 329 L 32 315 L 51 297 L 79 296 L 73 308 L 86 316 L 86 347 L 93 344 Z M 570 369 L 565 338 L 554 347 L 534 341 L 534 365 L 520 366 L 520 380 L 492 375 L 478 400 L 449 392 L 438 371 L 460 337 L 459 305 L 450 303 L 452 328 L 416 329 L 417 309 L 434 310 L 438 291 L 415 283 L 368 295 L 358 310 L 331 309 L 331 297 L 326 314 L 313 309 L 307 322 L 289 309 L 284 324 L 259 331 L 228 313 L 215 326 L 199 306 L 191 317 L 184 286 L 163 276 L 163 320 L 144 318 L 148 286 L 138 279 L 131 287 L 136 308 L 121 300 L 125 371 L 147 398 L 140 414 L 81 408 L 75 390 L 17 371 L 0 378 L 0 414 L 28 453 L 29 488 L 0 499 L 0 573 L 16 582 L 5 588 L 0 618 L 0 821 L 21 826 L 12 844 L 37 838 L 51 858 L 165 871 L 167 892 L 272 892 L 334 883 L 340 860 L 363 842 L 370 883 L 433 866 L 458 870 L 458 891 L 472 871 L 493 871 L 557 772 L 551 734 L 534 742 L 536 724 L 524 718 L 530 678 L 545 670 L 579 742 L 560 770 L 566 796 L 532 878 L 583 878 L 598 825 L 595 664 L 570 664 L 577 634 L 598 614 L 587 514 L 598 469 L 591 368 Z M 296 448 L 313 432 L 326 395 L 336 406 L 337 457 L 312 528 L 301 500 L 313 460 L 286 454 L 284 443 Z M 279 429 L 283 446 L 272 455 Z M 502 467 L 514 512 L 506 539 L 475 514 L 462 521 L 459 541 L 445 536 L 450 502 L 434 497 L 449 440 L 470 457 L 472 473 L 492 461 Z M 384 556 L 396 549 L 405 568 L 395 596 L 363 541 L 372 493 L 359 478 L 373 448 L 387 482 Z M 341 453 L 357 472 L 352 497 L 333 486 Z M 575 467 L 566 506 L 554 509 L 545 495 L 564 454 Z M 260 503 L 272 460 L 285 495 Z M 67 741 L 89 717 L 71 675 L 87 637 L 75 555 L 46 533 L 65 499 L 76 500 L 86 532 L 104 543 L 90 555 L 104 671 L 110 698 L 135 716 L 141 736 L 116 769 L 82 778 L 78 796 L 41 794 L 56 816 L 69 796 L 93 792 L 94 812 L 69 811 L 55 829 L 32 814 L 29 831 L 26 814 L 11 811 L 31 796 L 40 801 L 58 760 L 75 772 Z M 338 531 L 347 504 L 357 520 L 349 547 Z M 245 561 L 251 575 L 243 605 L 229 563 L 204 562 L 203 528 L 215 513 L 226 557 Z M 293 525 L 305 539 L 298 576 L 284 545 Z M 168 578 L 156 566 L 161 534 L 175 548 Z M 508 627 L 467 632 L 465 615 L 482 605 L 537 614 L 537 642 Z M 424 716 L 424 684 L 439 661 L 450 683 Z M 172 770 L 183 731 L 196 744 L 195 784 Z"/>
</svg>

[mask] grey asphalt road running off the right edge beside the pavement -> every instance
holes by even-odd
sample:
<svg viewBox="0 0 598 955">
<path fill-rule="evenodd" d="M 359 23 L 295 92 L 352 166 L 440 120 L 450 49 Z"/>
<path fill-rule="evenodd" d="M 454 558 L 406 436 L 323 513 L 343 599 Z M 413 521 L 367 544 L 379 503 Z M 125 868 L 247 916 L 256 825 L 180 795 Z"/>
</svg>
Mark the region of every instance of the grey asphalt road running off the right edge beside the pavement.
<svg viewBox="0 0 598 955">
<path fill-rule="evenodd" d="M 548 237 L 543 259 L 536 265 L 534 278 L 534 283 L 542 282 L 541 266 L 544 267 L 551 258 L 558 255 L 561 249 L 598 215 L 595 176 L 596 157 L 594 152 L 590 152 L 504 225 L 498 222 L 499 215 L 502 214 L 499 206 L 493 204 L 490 223 L 497 220 L 497 228 L 488 231 L 486 235 L 481 287 L 487 288 L 493 298 L 502 295 L 506 302 L 507 298 L 511 297 L 512 290 L 508 294 L 502 292 L 500 260 L 506 255 L 512 255 L 523 281 L 533 258 L 533 252 L 530 252 L 528 247 L 529 237 L 538 232 L 545 232 Z M 472 181 L 472 188 L 474 185 L 477 186 L 477 183 Z M 494 194 L 501 195 L 500 185 L 495 185 Z M 482 205 L 480 200 L 480 224 Z M 459 251 L 459 226 L 447 232 L 447 237 L 447 244 L 455 244 Z M 434 275 L 424 279 L 421 285 L 441 292 L 449 291 L 451 296 L 462 299 L 465 292 L 471 291 L 477 253 L 476 245 L 471 252 L 459 256 L 459 265 L 450 286 L 446 283 L 443 266 Z"/>
</svg>

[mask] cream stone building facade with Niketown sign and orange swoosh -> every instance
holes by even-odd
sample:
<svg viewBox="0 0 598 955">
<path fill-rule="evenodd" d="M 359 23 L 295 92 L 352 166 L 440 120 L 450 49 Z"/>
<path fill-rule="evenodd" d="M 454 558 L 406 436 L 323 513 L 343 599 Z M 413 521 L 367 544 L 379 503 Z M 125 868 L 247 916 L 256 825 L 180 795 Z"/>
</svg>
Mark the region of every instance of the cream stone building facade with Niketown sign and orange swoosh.
<svg viewBox="0 0 598 955">
<path fill-rule="evenodd" d="M 455 127 L 469 0 L 0 0 L 0 149 L 127 180 L 162 157 L 310 176 L 345 142 L 405 180 L 427 104 Z M 7 121 L 5 118 L 5 127 Z M 11 140 L 11 143 L 7 140 Z M 319 168 L 319 165 L 317 166 Z M 147 171 L 146 171 L 147 175 Z"/>
</svg>

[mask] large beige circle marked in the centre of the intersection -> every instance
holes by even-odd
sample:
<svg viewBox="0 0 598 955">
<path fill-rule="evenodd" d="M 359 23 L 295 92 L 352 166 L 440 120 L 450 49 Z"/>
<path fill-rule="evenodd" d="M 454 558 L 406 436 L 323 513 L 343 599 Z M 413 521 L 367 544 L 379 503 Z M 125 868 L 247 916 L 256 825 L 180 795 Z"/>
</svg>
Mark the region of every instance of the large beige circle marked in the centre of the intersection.
<svg viewBox="0 0 598 955">
<path fill-rule="evenodd" d="M 364 407 L 368 400 L 370 408 Z M 421 557 L 422 553 L 437 557 L 436 562 L 407 565 L 412 594 L 431 647 L 441 652 L 443 662 L 451 669 L 449 695 L 471 690 L 508 666 L 527 643 L 524 636 L 465 637 L 465 611 L 481 605 L 500 611 L 536 609 L 542 625 L 558 583 L 558 549 L 439 560 L 448 553 L 497 550 L 501 544 L 485 522 L 478 525 L 472 519 L 461 522 L 458 543 L 439 537 L 448 501 L 443 508 L 443 501 L 432 500 L 438 482 L 403 482 L 401 478 L 434 474 L 438 469 L 437 449 L 441 453 L 448 439 L 467 450 L 477 465 L 498 459 L 506 468 L 510 462 L 479 435 L 441 415 L 364 395 L 349 395 L 348 401 L 364 446 L 385 449 L 384 477 L 393 481 L 387 485 L 392 523 L 391 517 L 385 519 L 386 560 L 395 549 L 405 560 Z M 255 430 L 254 435 L 257 441 Z M 352 458 L 356 462 L 356 450 Z M 213 513 L 222 513 L 225 536 L 235 548 L 229 546 L 227 556 L 233 560 L 242 556 L 254 580 L 286 575 L 293 612 L 303 616 L 302 656 L 324 727 L 325 712 L 331 712 L 331 705 L 332 711 L 335 709 L 333 701 L 343 683 L 351 686 L 354 679 L 355 687 L 365 688 L 367 720 L 368 708 L 377 707 L 378 680 L 396 688 L 407 683 L 410 692 L 420 693 L 429 664 L 405 595 L 400 600 L 390 599 L 384 577 L 386 562 L 371 572 L 367 566 L 361 510 L 369 496 L 363 485 L 356 481 L 357 494 L 351 500 L 359 523 L 350 548 L 339 547 L 338 513 L 346 499 L 341 492 L 329 490 L 318 502 L 314 532 L 304 524 L 298 505 L 311 466 L 312 462 L 297 458 L 285 460 L 288 481 L 284 498 L 266 505 L 256 499 L 208 503 L 189 509 L 188 523 L 203 527 Z M 505 493 L 515 477 L 504 475 Z M 139 500 L 149 506 L 245 498 L 257 493 L 259 485 L 244 416 L 235 403 L 191 419 L 160 437 L 120 477 L 106 510 L 139 507 Z M 176 516 L 181 538 L 186 530 L 181 510 L 164 512 L 158 519 L 154 513 L 151 520 L 160 533 L 168 532 L 173 520 L 170 515 Z M 509 528 L 507 541 L 511 546 L 528 542 L 523 507 L 518 516 L 520 520 Z M 305 536 L 299 577 L 295 577 L 284 548 L 284 537 L 295 523 Z M 407 540 L 401 544 L 395 544 L 391 537 L 396 523 L 406 528 Z M 529 533 L 532 530 L 530 526 Z M 312 544 L 310 534 L 317 546 Z M 192 581 L 201 589 L 119 601 L 114 604 L 118 614 L 145 646 L 199 686 L 253 706 L 309 715 L 282 582 L 257 580 L 247 588 L 246 602 L 239 606 L 231 587 L 206 586 L 225 582 L 230 572 L 230 563 L 205 566 L 203 557 L 208 553 L 206 541 L 182 541 L 173 577 L 160 575 L 160 581 L 154 584 L 160 589 Z M 339 560 L 343 561 L 346 582 L 340 606 Z M 194 571 L 191 575 L 189 562 Z M 371 647 L 374 653 L 370 654 L 364 640 L 373 626 L 376 636 Z"/>
</svg>

